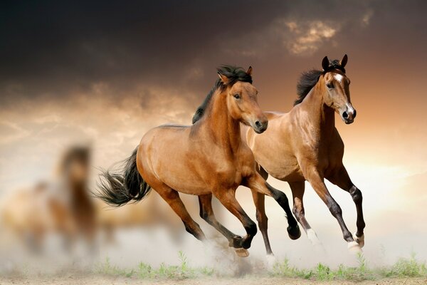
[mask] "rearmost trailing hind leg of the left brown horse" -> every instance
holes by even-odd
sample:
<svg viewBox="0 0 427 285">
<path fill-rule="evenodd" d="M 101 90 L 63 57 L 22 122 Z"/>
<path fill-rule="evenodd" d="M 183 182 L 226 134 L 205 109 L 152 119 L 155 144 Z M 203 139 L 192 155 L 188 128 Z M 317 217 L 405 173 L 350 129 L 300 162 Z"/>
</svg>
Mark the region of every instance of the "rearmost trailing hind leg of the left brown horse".
<svg viewBox="0 0 427 285">
<path fill-rule="evenodd" d="M 178 192 L 173 190 L 167 185 L 156 185 L 156 188 L 153 187 L 159 195 L 169 204 L 169 206 L 174 210 L 174 212 L 181 218 L 184 222 L 184 226 L 187 232 L 194 235 L 196 239 L 201 241 L 206 240 L 204 232 L 202 232 L 199 224 L 194 222 L 194 219 L 191 218 L 189 212 L 187 212 L 184 203 L 179 197 Z"/>
</svg>

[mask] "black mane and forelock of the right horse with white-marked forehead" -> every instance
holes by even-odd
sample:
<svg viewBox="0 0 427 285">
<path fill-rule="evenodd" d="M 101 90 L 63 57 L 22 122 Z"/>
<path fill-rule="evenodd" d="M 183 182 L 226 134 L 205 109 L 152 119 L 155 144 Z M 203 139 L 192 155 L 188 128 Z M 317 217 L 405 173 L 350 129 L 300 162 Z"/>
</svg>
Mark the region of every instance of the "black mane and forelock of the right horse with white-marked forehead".
<svg viewBox="0 0 427 285">
<path fill-rule="evenodd" d="M 298 105 L 299 103 L 302 102 L 302 100 L 304 100 L 305 96 L 307 96 L 310 90 L 312 90 L 312 88 L 315 87 L 317 81 L 319 81 L 319 78 L 322 74 L 325 74 L 334 69 L 337 69 L 345 73 L 345 69 L 339 64 L 339 60 L 337 59 L 330 61 L 330 66 L 327 68 L 326 71 L 319 71 L 317 69 L 312 69 L 310 71 L 305 71 L 301 73 L 300 80 L 297 83 L 298 98 L 297 100 L 295 100 L 294 106 Z"/>
</svg>

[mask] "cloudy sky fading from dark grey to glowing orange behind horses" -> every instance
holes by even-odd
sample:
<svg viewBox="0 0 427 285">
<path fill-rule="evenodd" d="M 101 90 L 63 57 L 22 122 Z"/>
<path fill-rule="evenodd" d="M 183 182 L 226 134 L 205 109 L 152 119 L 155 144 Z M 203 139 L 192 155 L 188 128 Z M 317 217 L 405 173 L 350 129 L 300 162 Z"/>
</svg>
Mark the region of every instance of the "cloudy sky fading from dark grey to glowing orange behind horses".
<svg viewBox="0 0 427 285">
<path fill-rule="evenodd" d="M 95 180 L 150 128 L 190 124 L 221 64 L 253 66 L 260 107 L 286 112 L 300 73 L 347 53 L 358 115 L 336 120 L 344 164 L 364 193 L 367 232 L 377 245 L 406 240 L 408 252 L 427 236 L 426 11 L 426 1 L 3 2 L 0 195 L 51 175 L 75 142 L 92 145 Z M 331 192 L 354 229 L 351 199 Z M 339 240 L 306 193 L 309 222 Z"/>
</svg>

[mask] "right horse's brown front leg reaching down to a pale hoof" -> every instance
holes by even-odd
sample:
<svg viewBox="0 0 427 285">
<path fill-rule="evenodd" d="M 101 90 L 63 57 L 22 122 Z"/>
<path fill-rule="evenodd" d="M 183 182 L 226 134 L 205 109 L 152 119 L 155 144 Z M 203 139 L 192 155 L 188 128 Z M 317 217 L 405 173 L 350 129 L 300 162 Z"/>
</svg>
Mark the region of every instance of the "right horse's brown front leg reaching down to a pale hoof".
<svg viewBox="0 0 427 285">
<path fill-rule="evenodd" d="M 334 198 L 330 195 L 330 192 L 327 190 L 325 182 L 322 177 L 320 177 L 319 173 L 316 170 L 312 170 L 305 175 L 305 178 L 310 185 L 312 185 L 313 189 L 319 195 L 320 199 L 327 205 L 328 209 L 332 216 L 337 219 L 339 227 L 341 227 L 342 234 L 344 240 L 348 243 L 348 248 L 352 252 L 361 252 L 362 249 L 357 242 L 354 241 L 352 233 L 347 229 L 346 224 L 344 223 L 344 219 L 342 219 L 342 209 L 339 207 L 339 204 L 334 200 Z"/>
</svg>

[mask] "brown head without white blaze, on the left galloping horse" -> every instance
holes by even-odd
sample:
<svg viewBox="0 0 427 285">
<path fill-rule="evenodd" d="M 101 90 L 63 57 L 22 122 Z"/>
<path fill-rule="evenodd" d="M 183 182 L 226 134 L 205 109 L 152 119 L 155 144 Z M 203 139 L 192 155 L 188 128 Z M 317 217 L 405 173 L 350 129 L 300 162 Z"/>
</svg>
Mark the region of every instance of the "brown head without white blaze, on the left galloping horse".
<svg viewBox="0 0 427 285">
<path fill-rule="evenodd" d="M 252 67 L 249 67 L 246 74 L 251 76 L 251 73 Z M 255 86 L 251 82 L 233 82 L 221 71 L 218 71 L 218 76 L 224 86 L 223 92 L 227 97 L 227 108 L 231 117 L 250 125 L 255 133 L 263 133 L 267 129 L 268 120 L 258 105 L 258 90 Z"/>
</svg>

